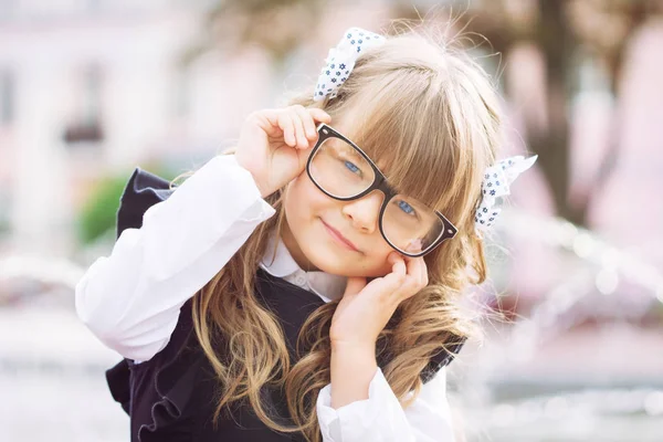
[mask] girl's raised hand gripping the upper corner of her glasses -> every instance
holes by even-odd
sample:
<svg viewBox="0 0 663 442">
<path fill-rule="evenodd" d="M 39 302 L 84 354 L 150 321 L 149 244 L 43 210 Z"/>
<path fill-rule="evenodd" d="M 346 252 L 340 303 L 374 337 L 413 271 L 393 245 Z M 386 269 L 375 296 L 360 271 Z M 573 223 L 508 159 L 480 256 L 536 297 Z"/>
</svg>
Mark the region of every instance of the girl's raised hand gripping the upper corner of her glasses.
<svg viewBox="0 0 663 442">
<path fill-rule="evenodd" d="M 235 158 L 251 172 L 263 198 L 304 171 L 318 138 L 317 122 L 330 120 L 323 109 L 301 105 L 257 110 L 246 117 Z"/>
</svg>

